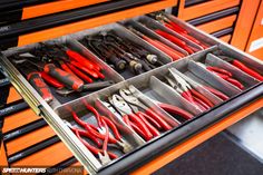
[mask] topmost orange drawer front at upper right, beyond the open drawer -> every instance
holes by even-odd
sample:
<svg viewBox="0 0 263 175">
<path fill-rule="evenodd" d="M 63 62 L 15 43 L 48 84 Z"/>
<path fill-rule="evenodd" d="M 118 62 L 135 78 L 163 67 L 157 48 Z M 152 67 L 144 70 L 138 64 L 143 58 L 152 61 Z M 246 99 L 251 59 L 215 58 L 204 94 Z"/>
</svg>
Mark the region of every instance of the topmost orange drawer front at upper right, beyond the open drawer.
<svg viewBox="0 0 263 175">
<path fill-rule="evenodd" d="M 238 6 L 241 0 L 213 0 L 204 3 L 199 3 L 193 7 L 188 7 L 179 11 L 178 18 L 183 20 L 191 20 L 197 17 L 202 17 L 215 11 L 224 10 L 231 7 Z"/>
</svg>

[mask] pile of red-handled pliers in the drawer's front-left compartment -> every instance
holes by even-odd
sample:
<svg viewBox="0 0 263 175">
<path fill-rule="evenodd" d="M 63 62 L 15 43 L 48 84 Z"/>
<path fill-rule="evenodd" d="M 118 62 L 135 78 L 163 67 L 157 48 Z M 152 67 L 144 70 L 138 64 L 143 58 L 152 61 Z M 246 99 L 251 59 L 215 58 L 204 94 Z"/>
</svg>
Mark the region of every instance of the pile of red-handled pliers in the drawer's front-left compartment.
<svg viewBox="0 0 263 175">
<path fill-rule="evenodd" d="M 133 149 L 133 146 L 126 142 L 117 126 L 111 121 L 108 117 L 101 116 L 96 108 L 94 108 L 91 105 L 84 103 L 86 108 L 91 111 L 97 120 L 97 126 L 91 125 L 87 121 L 84 121 L 79 118 L 79 116 L 71 110 L 71 115 L 74 120 L 81 126 L 82 128 L 72 126 L 68 121 L 65 121 L 71 130 L 76 134 L 76 136 L 79 138 L 79 140 L 95 155 L 97 156 L 101 164 L 108 164 L 111 159 L 117 158 L 118 156 L 108 149 L 108 146 L 117 147 L 118 149 L 121 149 L 124 153 L 128 153 Z M 111 133 L 110 133 L 110 130 Z M 88 138 L 96 145 L 95 147 L 92 144 L 87 142 Z M 103 142 L 103 144 L 101 144 Z"/>
</svg>

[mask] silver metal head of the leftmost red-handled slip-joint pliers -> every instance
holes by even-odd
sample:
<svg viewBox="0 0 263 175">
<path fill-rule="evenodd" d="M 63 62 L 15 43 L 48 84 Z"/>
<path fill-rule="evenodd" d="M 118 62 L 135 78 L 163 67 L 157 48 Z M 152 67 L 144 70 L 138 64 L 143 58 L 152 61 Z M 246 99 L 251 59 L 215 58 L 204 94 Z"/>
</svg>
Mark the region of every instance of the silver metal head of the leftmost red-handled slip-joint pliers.
<svg viewBox="0 0 263 175">
<path fill-rule="evenodd" d="M 108 100 L 121 114 L 121 116 L 133 114 L 133 109 L 119 95 L 115 94 L 111 97 L 108 97 Z"/>
</svg>

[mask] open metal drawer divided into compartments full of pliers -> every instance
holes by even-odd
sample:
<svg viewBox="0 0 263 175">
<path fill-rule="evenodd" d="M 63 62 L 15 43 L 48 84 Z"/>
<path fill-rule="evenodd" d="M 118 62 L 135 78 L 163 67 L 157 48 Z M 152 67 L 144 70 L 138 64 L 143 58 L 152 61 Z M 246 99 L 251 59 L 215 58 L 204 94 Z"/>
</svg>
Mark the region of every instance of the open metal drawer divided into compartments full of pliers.
<svg viewBox="0 0 263 175">
<path fill-rule="evenodd" d="M 45 41 L 43 43 L 10 48 L 1 52 L 1 66 L 8 74 L 12 85 L 18 89 L 30 107 L 47 120 L 90 174 L 128 173 L 162 153 L 167 152 L 182 140 L 227 117 L 227 115 L 242 106 L 257 98 L 262 98 L 262 81 L 234 67 L 226 60 L 226 57 L 235 58 L 246 64 L 247 67 L 260 75 L 263 75 L 262 61 L 201 32 L 198 29 L 175 17 L 169 14 L 164 16 L 177 23 L 189 36 L 202 41 L 202 45 L 197 46 L 191 37 L 187 38 L 183 33 L 177 33 L 172 29 L 165 28 L 162 22 L 155 21 L 150 16 L 138 17 L 119 23 L 80 31 L 55 40 Z M 167 33 L 184 40 L 191 46 L 189 48 L 193 49 L 193 52 L 187 52 L 188 49 L 184 47 L 181 48 L 175 42 L 172 42 L 169 38 L 155 33 L 155 30 L 150 28 L 152 20 L 154 20 L 152 22 L 154 29 L 165 30 Z M 137 32 L 128 30 L 130 29 L 129 27 L 133 27 Z M 144 54 L 147 52 L 147 56 L 154 55 L 162 65 L 155 66 L 150 70 L 145 69 L 139 74 L 135 74 L 135 71 L 130 71 L 133 74 L 126 74 L 118 70 L 116 68 L 116 65 L 118 66 L 115 61 L 116 59 L 110 59 L 110 61 L 108 59 L 104 60 L 101 52 L 96 52 L 96 49 L 92 50 L 92 48 L 85 45 L 86 42 L 82 42 L 86 38 L 89 39 L 88 41 L 90 41 L 90 38 L 101 39 L 100 37 L 105 37 L 105 33 L 118 36 L 120 39 L 125 40 L 127 46 L 135 47 L 130 42 L 136 42 L 136 46 L 138 45 L 140 49 L 144 49 Z M 150 45 L 149 40 L 142 38 L 142 33 L 153 37 L 177 51 L 182 51 L 185 56 L 174 60 L 169 52 L 165 52 L 162 48 Z M 99 38 L 96 38 L 98 35 Z M 17 60 L 17 56 L 26 55 L 27 57 L 31 57 L 31 55 L 39 54 L 38 50 L 41 50 L 43 46 L 52 48 L 59 45 L 64 45 L 67 49 L 88 58 L 89 61 L 96 62 L 96 65 L 100 67 L 105 79 L 114 81 L 115 85 L 110 85 L 98 91 L 79 93 L 77 90 L 67 97 L 59 96 L 56 88 L 50 87 L 50 91 L 55 98 L 52 100 L 45 100 L 45 96 L 33 88 L 35 86 L 31 81 L 29 82 L 27 80 L 30 80 L 30 78 L 25 76 L 23 68 L 26 67 L 27 69 L 28 65 L 20 66 L 21 59 Z M 119 48 L 123 47 L 124 46 L 120 45 Z M 115 50 L 117 50 L 117 48 L 115 48 Z M 30 56 L 28 56 L 28 54 Z M 116 52 L 104 56 L 111 58 L 114 54 Z M 39 60 L 37 58 L 39 57 L 43 58 L 41 55 L 37 55 L 37 57 L 32 58 L 38 62 Z M 30 60 L 32 58 L 30 58 Z M 60 60 L 56 61 L 59 62 Z M 25 64 L 25 61 L 22 62 Z M 50 65 L 50 62 L 47 65 Z M 208 67 L 224 69 L 231 74 L 231 76 L 223 78 L 218 76 L 218 74 L 211 71 Z M 47 69 L 45 69 L 45 71 Z M 49 71 L 47 70 L 47 72 Z M 230 80 L 231 78 L 232 80 Z M 173 79 L 175 84 L 172 84 L 172 81 L 169 81 L 171 79 Z M 205 100 L 203 103 L 199 101 L 197 96 L 193 97 L 195 100 L 186 98 L 183 93 L 174 86 L 178 79 L 181 79 L 181 82 L 187 82 L 187 85 L 194 89 L 194 94 L 202 96 Z M 233 82 L 233 79 L 235 79 L 235 82 Z M 95 81 L 99 82 L 97 79 Z M 66 88 L 70 86 L 66 86 Z M 121 110 L 124 104 L 129 104 L 129 107 L 135 105 L 133 100 L 129 101 L 130 98 L 128 98 L 128 96 L 133 96 L 133 99 L 136 98 L 140 101 L 140 105 L 137 106 L 137 111 L 148 114 L 152 119 L 147 117 L 146 119 L 149 125 L 156 126 L 158 128 L 157 130 L 154 130 L 153 127 L 149 129 L 149 125 L 143 119 L 148 132 L 150 132 L 147 135 L 144 132 L 142 133 L 142 129 L 136 129 L 134 125 L 124 119 L 125 115 L 123 113 L 127 111 Z M 123 106 L 119 106 L 118 101 L 121 101 L 121 99 L 124 100 L 123 104 L 120 104 Z M 172 108 L 169 109 L 173 109 L 175 113 L 167 110 L 167 107 L 171 106 Z M 106 117 L 103 119 L 104 121 L 100 120 L 103 124 L 96 123 L 96 117 L 90 113 L 90 110 L 94 111 L 92 107 L 95 107 L 100 115 Z M 132 109 L 135 110 L 134 108 Z M 128 113 L 127 115 L 130 114 Z M 106 128 L 106 133 L 108 129 L 105 123 L 106 120 L 111 120 L 121 135 L 119 142 L 125 143 L 126 147 L 123 147 L 124 149 L 117 149 L 116 146 L 108 146 L 110 161 L 101 161 L 100 157 L 104 153 L 95 154 L 87 144 L 84 144 L 82 139 L 78 138 L 78 134 L 75 130 L 84 126 L 82 121 L 77 119 L 78 117 L 82 121 L 92 125 L 97 132 L 99 132 L 97 127 L 101 128 L 99 126 L 101 125 L 103 128 Z M 153 120 L 157 120 L 159 124 Z M 133 119 L 132 123 L 137 124 Z M 142 125 L 139 126 L 144 127 Z M 109 137 L 114 137 L 115 133 L 111 127 L 109 128 L 109 133 L 111 133 Z M 105 130 L 100 134 L 105 135 Z M 105 139 L 104 136 L 103 140 Z M 91 139 L 85 140 L 90 145 Z M 113 139 L 110 140 L 110 138 L 109 142 L 111 142 L 111 144 L 116 143 Z M 121 147 L 121 144 L 117 145 Z"/>
</svg>

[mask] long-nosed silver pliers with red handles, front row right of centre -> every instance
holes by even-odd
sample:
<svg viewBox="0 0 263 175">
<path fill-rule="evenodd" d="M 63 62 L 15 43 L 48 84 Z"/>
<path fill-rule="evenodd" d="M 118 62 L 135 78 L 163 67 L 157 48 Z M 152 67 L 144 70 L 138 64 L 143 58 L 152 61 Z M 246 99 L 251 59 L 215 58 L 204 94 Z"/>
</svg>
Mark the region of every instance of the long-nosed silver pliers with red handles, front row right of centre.
<svg viewBox="0 0 263 175">
<path fill-rule="evenodd" d="M 197 106 L 202 111 L 212 108 L 214 105 L 201 93 L 191 87 L 186 80 L 179 75 L 174 74 L 171 69 L 171 77 L 166 76 L 165 79 L 183 98 L 191 104 Z"/>
</svg>

